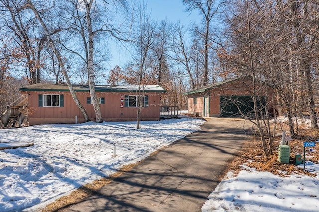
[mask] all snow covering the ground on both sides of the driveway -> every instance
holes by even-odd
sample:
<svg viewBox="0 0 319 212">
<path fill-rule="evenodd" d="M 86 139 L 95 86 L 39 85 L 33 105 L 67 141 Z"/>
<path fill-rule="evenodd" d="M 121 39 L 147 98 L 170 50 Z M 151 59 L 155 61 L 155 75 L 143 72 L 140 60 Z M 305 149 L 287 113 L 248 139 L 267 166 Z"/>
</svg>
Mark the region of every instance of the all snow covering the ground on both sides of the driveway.
<svg viewBox="0 0 319 212">
<path fill-rule="evenodd" d="M 182 118 L 144 121 L 141 129 L 136 129 L 135 122 L 91 122 L 0 130 L 0 142 L 34 143 L 0 151 L 0 211 L 35 211 L 124 164 L 142 160 L 199 130 L 201 124 L 199 119 Z M 112 157 L 114 146 L 116 157 Z M 227 174 L 208 197 L 203 212 L 319 211 L 318 164 L 306 164 L 316 177 L 294 174 L 283 178 L 242 168 L 237 176 Z"/>
</svg>

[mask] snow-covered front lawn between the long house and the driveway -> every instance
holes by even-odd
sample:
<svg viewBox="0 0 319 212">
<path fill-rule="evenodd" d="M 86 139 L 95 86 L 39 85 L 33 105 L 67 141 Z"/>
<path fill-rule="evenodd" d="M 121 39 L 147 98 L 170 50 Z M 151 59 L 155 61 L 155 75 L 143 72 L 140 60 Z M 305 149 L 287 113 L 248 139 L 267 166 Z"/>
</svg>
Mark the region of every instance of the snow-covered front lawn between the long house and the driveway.
<svg viewBox="0 0 319 212">
<path fill-rule="evenodd" d="M 0 211 L 34 211 L 80 186 L 142 160 L 200 129 L 200 119 L 38 125 L 1 129 L 1 142 L 34 146 L 0 151 Z M 114 146 L 116 157 L 113 156 Z M 32 208 L 30 208 L 32 207 Z"/>
</svg>

